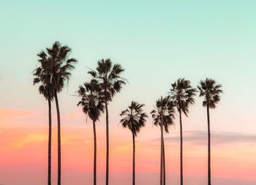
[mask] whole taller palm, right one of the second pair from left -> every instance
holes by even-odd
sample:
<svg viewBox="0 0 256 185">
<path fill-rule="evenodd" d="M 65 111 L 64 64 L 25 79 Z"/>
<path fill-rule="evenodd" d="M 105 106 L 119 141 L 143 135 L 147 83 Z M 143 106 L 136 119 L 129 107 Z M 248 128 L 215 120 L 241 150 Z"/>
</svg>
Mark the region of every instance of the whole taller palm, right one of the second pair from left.
<svg viewBox="0 0 256 185">
<path fill-rule="evenodd" d="M 113 64 L 108 59 L 98 61 L 96 70 L 89 71 L 89 74 L 96 79 L 101 88 L 105 102 L 106 111 L 106 185 L 108 185 L 109 176 L 109 123 L 108 123 L 108 102 L 112 101 L 113 96 L 118 93 L 125 84 L 125 79 L 121 78 L 121 73 L 124 69 L 120 64 Z"/>
</svg>

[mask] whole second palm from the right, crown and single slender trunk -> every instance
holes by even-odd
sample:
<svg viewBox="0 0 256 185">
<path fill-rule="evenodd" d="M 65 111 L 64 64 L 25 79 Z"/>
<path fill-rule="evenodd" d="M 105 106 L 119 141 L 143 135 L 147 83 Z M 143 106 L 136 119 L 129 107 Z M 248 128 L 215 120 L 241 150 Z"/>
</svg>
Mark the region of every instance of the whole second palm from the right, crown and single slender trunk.
<svg viewBox="0 0 256 185">
<path fill-rule="evenodd" d="M 182 119 L 181 114 L 184 113 L 188 116 L 189 105 L 195 104 L 195 94 L 196 89 L 192 88 L 190 81 L 184 78 L 179 78 L 175 83 L 172 84 L 170 88 L 170 98 L 173 100 L 174 105 L 176 105 L 179 121 L 180 121 L 180 135 L 181 135 L 181 185 L 183 185 L 183 137 L 182 137 Z"/>
</svg>

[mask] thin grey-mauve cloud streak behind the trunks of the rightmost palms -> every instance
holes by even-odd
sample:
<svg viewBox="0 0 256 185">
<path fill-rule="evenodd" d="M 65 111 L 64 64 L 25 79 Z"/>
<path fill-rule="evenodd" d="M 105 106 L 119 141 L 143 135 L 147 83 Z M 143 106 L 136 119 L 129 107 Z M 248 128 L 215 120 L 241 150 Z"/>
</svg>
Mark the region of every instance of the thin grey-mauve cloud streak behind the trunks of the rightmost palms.
<svg viewBox="0 0 256 185">
<path fill-rule="evenodd" d="M 206 131 L 187 131 L 184 132 L 184 141 L 188 141 L 197 145 L 205 145 L 207 143 L 208 134 Z M 165 137 L 166 141 L 178 141 L 179 136 Z M 236 143 L 256 143 L 256 135 L 244 134 L 238 132 L 211 132 L 212 144 L 236 144 Z"/>
</svg>

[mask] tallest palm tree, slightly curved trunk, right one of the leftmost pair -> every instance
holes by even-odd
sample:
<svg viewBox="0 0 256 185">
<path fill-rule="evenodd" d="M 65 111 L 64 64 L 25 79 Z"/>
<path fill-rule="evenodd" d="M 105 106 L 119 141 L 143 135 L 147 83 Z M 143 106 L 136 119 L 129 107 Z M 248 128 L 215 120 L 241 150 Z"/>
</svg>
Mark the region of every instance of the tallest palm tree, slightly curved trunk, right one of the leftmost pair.
<svg viewBox="0 0 256 185">
<path fill-rule="evenodd" d="M 58 93 L 64 88 L 65 82 L 69 80 L 77 62 L 75 58 L 69 58 L 71 48 L 67 45 L 61 46 L 60 42 L 54 42 L 52 48 L 47 48 L 50 74 L 54 88 L 54 99 L 56 102 L 58 120 L 58 185 L 61 185 L 61 116 L 59 110 Z"/>
</svg>

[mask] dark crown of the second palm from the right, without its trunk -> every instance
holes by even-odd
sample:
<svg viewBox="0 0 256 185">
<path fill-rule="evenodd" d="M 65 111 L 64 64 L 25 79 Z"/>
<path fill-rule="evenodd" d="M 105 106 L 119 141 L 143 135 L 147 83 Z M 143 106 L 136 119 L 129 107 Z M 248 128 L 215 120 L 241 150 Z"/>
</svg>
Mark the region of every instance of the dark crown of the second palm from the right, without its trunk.
<svg viewBox="0 0 256 185">
<path fill-rule="evenodd" d="M 195 103 L 195 94 L 197 90 L 192 88 L 190 81 L 179 78 L 172 84 L 170 89 L 170 98 L 173 100 L 178 111 L 182 111 L 186 116 L 189 113 L 189 105 Z"/>
</svg>

